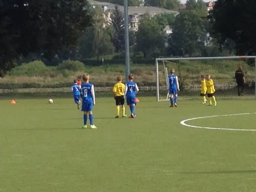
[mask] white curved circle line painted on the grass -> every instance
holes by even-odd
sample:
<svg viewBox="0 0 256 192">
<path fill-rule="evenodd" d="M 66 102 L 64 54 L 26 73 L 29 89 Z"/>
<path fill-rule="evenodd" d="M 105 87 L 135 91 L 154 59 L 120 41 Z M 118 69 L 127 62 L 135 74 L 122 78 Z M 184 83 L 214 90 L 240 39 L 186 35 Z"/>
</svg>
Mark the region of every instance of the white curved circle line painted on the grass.
<svg viewBox="0 0 256 192">
<path fill-rule="evenodd" d="M 187 120 L 182 120 L 180 123 L 184 126 L 190 127 L 190 128 L 200 128 L 200 129 L 213 129 L 213 130 L 229 130 L 229 131 L 253 131 L 255 132 L 256 129 L 232 129 L 232 128 L 218 128 L 218 127 L 200 127 L 195 125 L 188 125 L 186 124 L 187 121 L 190 120 L 199 120 L 199 119 L 206 119 L 206 118 L 214 118 L 214 117 L 227 117 L 227 116 L 236 116 L 236 115 L 252 115 L 255 113 L 237 113 L 237 114 L 229 114 L 229 115 L 214 115 L 214 116 L 205 116 L 205 117 L 195 117 Z"/>
</svg>

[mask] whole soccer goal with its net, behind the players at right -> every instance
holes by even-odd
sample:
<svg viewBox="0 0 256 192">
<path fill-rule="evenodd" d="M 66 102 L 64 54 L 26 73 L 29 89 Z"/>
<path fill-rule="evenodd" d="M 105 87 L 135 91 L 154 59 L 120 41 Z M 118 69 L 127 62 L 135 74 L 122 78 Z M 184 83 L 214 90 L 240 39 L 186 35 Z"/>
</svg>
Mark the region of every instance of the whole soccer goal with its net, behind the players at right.
<svg viewBox="0 0 256 192">
<path fill-rule="evenodd" d="M 244 96 L 238 97 L 235 72 L 243 67 L 245 84 Z M 171 69 L 178 76 L 183 98 L 200 96 L 201 75 L 210 74 L 214 81 L 216 95 L 223 99 L 256 99 L 256 56 L 201 57 L 201 58 L 157 58 L 156 82 L 157 101 L 169 100 L 169 78 Z"/>
</svg>

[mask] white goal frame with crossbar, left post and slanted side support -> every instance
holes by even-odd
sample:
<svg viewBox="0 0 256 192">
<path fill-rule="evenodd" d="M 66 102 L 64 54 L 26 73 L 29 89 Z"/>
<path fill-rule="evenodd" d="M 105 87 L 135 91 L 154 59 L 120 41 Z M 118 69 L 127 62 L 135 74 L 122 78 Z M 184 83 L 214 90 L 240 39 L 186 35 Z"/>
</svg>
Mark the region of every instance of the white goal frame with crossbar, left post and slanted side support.
<svg viewBox="0 0 256 192">
<path fill-rule="evenodd" d="M 190 57 L 190 58 L 157 58 L 156 59 L 156 74 L 157 74 L 157 101 L 167 101 L 169 96 L 167 95 L 166 99 L 159 99 L 159 72 L 158 72 L 158 61 L 163 61 L 164 73 L 166 75 L 166 84 L 168 86 L 169 80 L 167 79 L 168 69 L 165 67 L 164 61 L 174 61 L 174 60 L 228 60 L 228 59 L 255 59 L 255 82 L 256 82 L 256 56 L 232 56 L 232 57 Z M 169 86 L 168 86 L 169 88 Z M 256 94 L 256 86 L 255 86 Z M 256 95 L 255 95 L 256 99 Z"/>
</svg>

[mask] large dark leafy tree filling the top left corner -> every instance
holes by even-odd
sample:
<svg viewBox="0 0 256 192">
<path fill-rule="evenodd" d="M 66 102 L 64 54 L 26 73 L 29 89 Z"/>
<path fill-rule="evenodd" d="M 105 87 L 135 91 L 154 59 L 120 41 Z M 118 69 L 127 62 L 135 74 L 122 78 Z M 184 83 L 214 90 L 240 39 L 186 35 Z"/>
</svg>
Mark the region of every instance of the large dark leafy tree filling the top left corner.
<svg viewBox="0 0 256 192">
<path fill-rule="evenodd" d="M 52 58 L 75 47 L 90 24 L 86 0 L 4 0 L 0 3 L 0 76 L 30 52 Z"/>
</svg>

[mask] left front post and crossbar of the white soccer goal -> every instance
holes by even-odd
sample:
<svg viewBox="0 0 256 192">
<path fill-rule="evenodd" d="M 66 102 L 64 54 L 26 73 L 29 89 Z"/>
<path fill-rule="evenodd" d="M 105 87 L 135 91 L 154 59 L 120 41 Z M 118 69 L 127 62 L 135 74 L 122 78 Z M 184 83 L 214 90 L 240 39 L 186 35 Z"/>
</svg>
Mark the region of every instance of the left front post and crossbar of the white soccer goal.
<svg viewBox="0 0 256 192">
<path fill-rule="evenodd" d="M 164 60 L 223 60 L 223 59 L 254 59 L 254 67 L 255 67 L 255 99 L 256 99 L 256 56 L 231 56 L 231 57 L 190 57 L 190 58 L 157 58 L 156 59 L 156 74 L 157 74 L 157 101 L 159 101 L 159 75 L 158 75 L 158 61 Z"/>
</svg>

